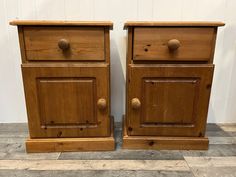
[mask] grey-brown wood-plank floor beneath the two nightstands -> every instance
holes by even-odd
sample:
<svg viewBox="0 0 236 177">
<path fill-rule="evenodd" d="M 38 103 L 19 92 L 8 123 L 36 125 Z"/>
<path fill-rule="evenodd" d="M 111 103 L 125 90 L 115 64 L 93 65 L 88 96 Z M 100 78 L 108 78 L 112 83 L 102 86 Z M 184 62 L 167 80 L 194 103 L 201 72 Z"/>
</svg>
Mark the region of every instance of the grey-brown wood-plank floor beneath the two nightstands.
<svg viewBox="0 0 236 177">
<path fill-rule="evenodd" d="M 208 151 L 121 149 L 26 154 L 27 124 L 0 124 L 0 176 L 4 177 L 236 177 L 236 124 L 208 124 Z"/>
</svg>

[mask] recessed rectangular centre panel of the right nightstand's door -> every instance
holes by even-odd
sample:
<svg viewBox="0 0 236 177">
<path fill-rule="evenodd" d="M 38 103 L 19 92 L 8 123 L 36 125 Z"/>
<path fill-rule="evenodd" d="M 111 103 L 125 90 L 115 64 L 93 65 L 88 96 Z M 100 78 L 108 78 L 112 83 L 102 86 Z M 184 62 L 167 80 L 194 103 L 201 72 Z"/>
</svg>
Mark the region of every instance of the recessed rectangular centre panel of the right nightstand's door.
<svg viewBox="0 0 236 177">
<path fill-rule="evenodd" d="M 142 124 L 192 124 L 198 78 L 143 78 Z"/>
</svg>

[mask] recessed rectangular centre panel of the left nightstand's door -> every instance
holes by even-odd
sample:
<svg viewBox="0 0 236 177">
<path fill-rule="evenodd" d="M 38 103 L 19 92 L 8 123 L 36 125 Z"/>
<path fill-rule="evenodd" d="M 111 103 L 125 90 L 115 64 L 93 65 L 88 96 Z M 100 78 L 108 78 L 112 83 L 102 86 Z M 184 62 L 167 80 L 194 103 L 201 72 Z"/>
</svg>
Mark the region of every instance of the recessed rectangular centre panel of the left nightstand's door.
<svg viewBox="0 0 236 177">
<path fill-rule="evenodd" d="M 96 78 L 37 79 L 41 125 L 96 124 Z"/>
</svg>

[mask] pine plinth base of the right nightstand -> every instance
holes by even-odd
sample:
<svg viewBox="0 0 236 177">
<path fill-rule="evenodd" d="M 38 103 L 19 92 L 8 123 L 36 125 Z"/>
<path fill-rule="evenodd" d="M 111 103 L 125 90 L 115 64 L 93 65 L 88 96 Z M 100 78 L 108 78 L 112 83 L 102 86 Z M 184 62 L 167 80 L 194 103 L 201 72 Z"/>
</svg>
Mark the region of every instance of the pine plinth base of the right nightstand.
<svg viewBox="0 0 236 177">
<path fill-rule="evenodd" d="M 147 150 L 207 150 L 206 137 L 129 136 L 123 116 L 123 149 Z"/>
</svg>

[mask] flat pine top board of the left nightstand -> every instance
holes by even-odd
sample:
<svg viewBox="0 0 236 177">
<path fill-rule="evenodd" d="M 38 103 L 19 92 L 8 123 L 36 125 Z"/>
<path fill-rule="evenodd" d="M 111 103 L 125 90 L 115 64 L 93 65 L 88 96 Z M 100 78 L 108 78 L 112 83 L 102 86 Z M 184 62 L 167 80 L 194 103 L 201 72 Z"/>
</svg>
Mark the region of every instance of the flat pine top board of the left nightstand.
<svg viewBox="0 0 236 177">
<path fill-rule="evenodd" d="M 63 21 L 63 20 L 13 20 L 10 25 L 24 26 L 107 26 L 113 28 L 111 21 Z"/>
</svg>

